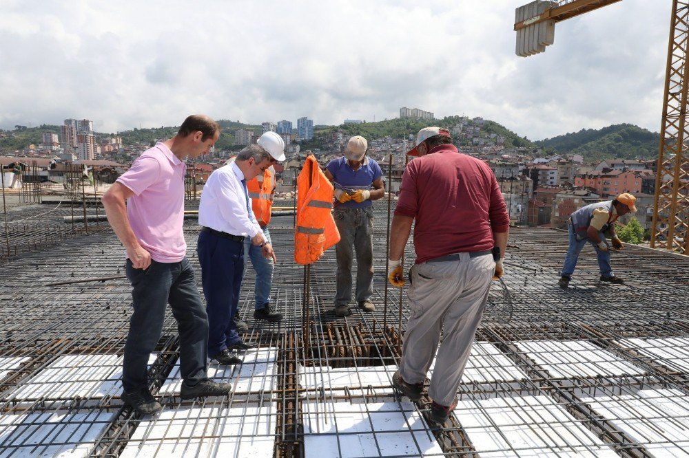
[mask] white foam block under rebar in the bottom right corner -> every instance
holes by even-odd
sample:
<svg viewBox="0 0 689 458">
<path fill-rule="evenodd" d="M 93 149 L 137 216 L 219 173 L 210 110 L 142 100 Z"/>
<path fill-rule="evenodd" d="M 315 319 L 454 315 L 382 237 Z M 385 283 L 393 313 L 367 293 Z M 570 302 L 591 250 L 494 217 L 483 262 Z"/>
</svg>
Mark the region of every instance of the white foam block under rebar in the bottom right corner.
<svg viewBox="0 0 689 458">
<path fill-rule="evenodd" d="M 652 450 L 654 456 L 689 456 L 689 397 L 679 390 L 586 397 L 593 410 Z"/>
</svg>

